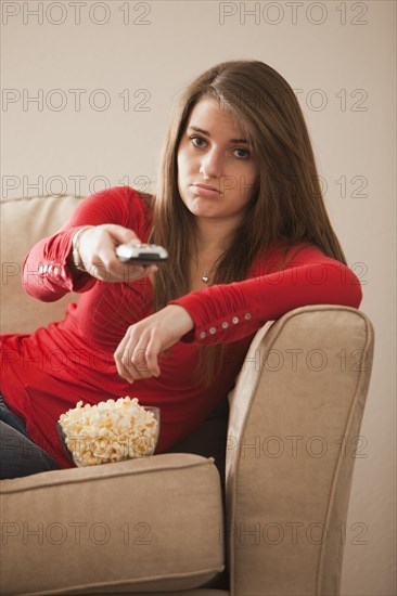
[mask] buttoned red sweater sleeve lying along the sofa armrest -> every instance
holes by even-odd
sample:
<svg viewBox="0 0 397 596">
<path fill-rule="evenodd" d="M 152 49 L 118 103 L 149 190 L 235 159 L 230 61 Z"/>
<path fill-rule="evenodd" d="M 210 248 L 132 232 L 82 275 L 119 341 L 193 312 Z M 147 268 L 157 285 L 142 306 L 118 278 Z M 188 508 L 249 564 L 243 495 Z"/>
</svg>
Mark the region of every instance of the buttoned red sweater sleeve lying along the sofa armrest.
<svg viewBox="0 0 397 596">
<path fill-rule="evenodd" d="M 243 282 L 214 285 L 170 301 L 183 307 L 195 324 L 181 341 L 238 341 L 290 310 L 309 305 L 358 308 L 362 299 L 355 273 L 316 247 L 302 249 L 281 271 L 264 275 L 257 271 Z"/>
</svg>

